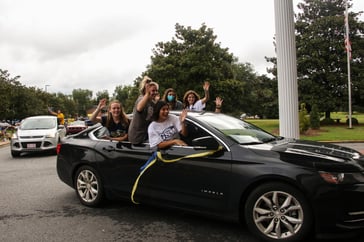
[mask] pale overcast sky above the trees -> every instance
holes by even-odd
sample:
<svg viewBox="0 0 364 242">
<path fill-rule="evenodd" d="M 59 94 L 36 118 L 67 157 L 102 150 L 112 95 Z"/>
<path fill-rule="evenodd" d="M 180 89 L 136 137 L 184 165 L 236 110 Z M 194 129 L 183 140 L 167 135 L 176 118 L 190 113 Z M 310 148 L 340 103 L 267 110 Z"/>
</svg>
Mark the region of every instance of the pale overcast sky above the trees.
<svg viewBox="0 0 364 242">
<path fill-rule="evenodd" d="M 363 0 L 353 3 L 364 10 Z M 52 93 L 112 95 L 146 70 L 176 23 L 205 23 L 221 47 L 259 74 L 270 66 L 264 57 L 275 56 L 274 0 L 0 0 L 0 69 Z"/>
</svg>

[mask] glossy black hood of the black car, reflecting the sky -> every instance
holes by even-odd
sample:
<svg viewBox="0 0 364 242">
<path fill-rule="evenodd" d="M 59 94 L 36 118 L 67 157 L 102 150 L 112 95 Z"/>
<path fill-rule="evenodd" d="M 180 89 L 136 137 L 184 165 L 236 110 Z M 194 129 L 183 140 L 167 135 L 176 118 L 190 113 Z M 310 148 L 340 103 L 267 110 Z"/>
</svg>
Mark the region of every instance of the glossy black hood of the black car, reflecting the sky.
<svg viewBox="0 0 364 242">
<path fill-rule="evenodd" d="M 283 139 L 249 148 L 257 153 L 274 152 L 281 161 L 317 169 L 364 171 L 364 156 L 359 151 L 331 143 Z"/>
</svg>

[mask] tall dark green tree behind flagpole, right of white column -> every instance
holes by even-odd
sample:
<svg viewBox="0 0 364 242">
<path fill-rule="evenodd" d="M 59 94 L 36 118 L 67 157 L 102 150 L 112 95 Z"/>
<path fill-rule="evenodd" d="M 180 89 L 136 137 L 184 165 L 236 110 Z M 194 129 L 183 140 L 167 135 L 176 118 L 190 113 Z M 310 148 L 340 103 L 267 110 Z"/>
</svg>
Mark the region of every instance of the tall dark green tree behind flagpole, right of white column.
<svg viewBox="0 0 364 242">
<path fill-rule="evenodd" d="M 304 0 L 296 15 L 296 45 L 300 102 L 317 103 L 325 117 L 345 110 L 348 100 L 347 61 L 344 46 L 345 0 Z M 351 5 L 349 5 L 350 7 Z M 364 25 L 359 13 L 350 13 L 352 85 L 356 103 L 362 103 Z"/>
</svg>

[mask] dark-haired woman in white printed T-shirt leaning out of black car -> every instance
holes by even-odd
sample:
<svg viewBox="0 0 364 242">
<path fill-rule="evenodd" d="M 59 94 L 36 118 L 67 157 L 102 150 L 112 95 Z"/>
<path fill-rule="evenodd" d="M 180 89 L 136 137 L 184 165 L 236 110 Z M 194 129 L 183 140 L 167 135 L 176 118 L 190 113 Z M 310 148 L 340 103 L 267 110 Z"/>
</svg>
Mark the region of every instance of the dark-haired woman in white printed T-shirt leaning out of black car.
<svg viewBox="0 0 364 242">
<path fill-rule="evenodd" d="M 156 103 L 152 123 L 148 127 L 149 145 L 151 148 L 165 149 L 172 145 L 186 146 L 179 135 L 187 136 L 184 124 L 187 110 L 184 109 L 179 117 L 169 114 L 167 102 L 160 100 Z"/>
</svg>

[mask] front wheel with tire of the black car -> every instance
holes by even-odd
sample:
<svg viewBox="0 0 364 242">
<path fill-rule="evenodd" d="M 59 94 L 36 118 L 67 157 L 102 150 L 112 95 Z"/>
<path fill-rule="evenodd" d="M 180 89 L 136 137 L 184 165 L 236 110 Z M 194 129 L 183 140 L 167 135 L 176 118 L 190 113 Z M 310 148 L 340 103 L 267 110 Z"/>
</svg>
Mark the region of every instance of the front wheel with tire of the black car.
<svg viewBox="0 0 364 242">
<path fill-rule="evenodd" d="M 279 182 L 251 192 L 244 215 L 249 230 L 265 241 L 300 241 L 313 227 L 311 208 L 303 194 Z"/>
</svg>

